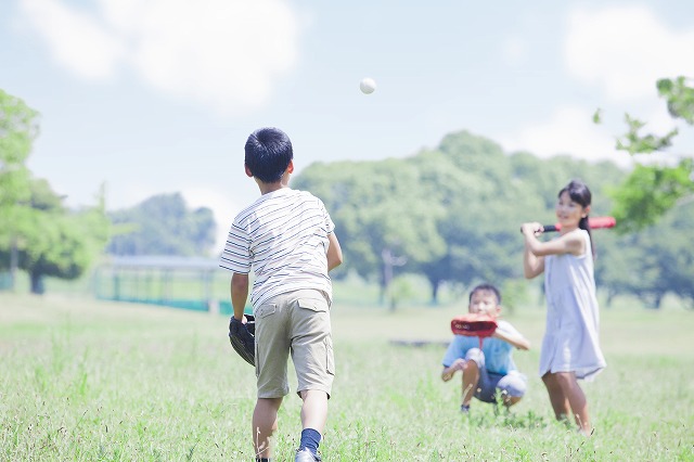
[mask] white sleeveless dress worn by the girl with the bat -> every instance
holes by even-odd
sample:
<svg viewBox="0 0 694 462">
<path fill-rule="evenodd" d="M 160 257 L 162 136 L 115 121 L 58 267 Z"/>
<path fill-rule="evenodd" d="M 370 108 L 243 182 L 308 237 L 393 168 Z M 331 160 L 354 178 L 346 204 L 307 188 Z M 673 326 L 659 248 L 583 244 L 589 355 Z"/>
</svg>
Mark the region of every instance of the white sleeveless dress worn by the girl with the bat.
<svg viewBox="0 0 694 462">
<path fill-rule="evenodd" d="M 600 349 L 600 319 L 593 255 L 588 231 L 578 229 L 586 240 L 586 253 L 544 257 L 547 328 L 540 351 L 540 376 L 547 372 L 575 372 L 591 381 L 605 368 Z"/>
</svg>

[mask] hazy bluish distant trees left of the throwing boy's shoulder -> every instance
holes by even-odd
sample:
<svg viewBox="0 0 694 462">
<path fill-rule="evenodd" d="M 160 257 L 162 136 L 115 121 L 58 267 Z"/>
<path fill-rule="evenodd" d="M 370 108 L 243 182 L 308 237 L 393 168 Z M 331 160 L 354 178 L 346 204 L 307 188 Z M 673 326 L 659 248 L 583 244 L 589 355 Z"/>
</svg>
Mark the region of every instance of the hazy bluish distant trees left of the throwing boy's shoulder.
<svg viewBox="0 0 694 462">
<path fill-rule="evenodd" d="M 110 216 L 124 230 L 108 243 L 113 255 L 206 255 L 215 244 L 211 209 L 189 209 L 180 193 L 158 194 Z"/>
</svg>

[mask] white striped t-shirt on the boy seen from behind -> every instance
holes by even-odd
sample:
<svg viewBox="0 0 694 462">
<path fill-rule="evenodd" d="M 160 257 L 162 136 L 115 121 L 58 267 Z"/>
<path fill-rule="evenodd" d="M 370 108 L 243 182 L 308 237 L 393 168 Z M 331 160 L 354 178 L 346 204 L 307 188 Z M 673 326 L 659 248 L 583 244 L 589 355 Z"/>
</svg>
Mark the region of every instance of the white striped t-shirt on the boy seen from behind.
<svg viewBox="0 0 694 462">
<path fill-rule="evenodd" d="M 327 234 L 335 224 L 322 201 L 290 188 L 262 194 L 229 230 L 219 266 L 255 281 L 250 303 L 286 292 L 316 288 L 332 297 L 327 275 Z"/>
</svg>

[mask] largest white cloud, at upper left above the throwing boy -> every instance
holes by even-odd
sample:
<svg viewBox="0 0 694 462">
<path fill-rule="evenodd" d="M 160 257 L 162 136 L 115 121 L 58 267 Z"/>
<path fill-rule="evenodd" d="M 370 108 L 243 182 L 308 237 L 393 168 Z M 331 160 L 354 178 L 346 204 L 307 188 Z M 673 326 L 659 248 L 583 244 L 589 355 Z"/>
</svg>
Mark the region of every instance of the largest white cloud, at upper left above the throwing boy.
<svg viewBox="0 0 694 462">
<path fill-rule="evenodd" d="M 105 78 L 127 65 L 152 87 L 220 112 L 262 105 L 297 59 L 301 21 L 284 0 L 21 0 L 59 63 Z"/>
</svg>

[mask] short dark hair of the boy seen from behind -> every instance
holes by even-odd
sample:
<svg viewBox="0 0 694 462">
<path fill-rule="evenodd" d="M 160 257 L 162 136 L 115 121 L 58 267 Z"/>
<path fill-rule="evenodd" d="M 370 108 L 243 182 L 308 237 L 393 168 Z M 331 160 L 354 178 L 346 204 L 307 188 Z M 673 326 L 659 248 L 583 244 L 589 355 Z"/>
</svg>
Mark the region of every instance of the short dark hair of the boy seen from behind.
<svg viewBox="0 0 694 462">
<path fill-rule="evenodd" d="M 275 183 L 294 158 L 292 141 L 278 128 L 260 128 L 246 140 L 245 164 L 250 174 L 264 183 Z"/>
</svg>

